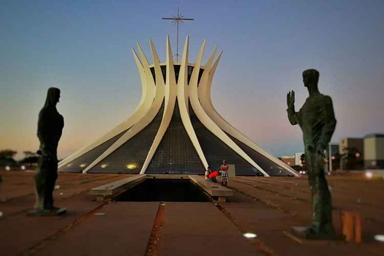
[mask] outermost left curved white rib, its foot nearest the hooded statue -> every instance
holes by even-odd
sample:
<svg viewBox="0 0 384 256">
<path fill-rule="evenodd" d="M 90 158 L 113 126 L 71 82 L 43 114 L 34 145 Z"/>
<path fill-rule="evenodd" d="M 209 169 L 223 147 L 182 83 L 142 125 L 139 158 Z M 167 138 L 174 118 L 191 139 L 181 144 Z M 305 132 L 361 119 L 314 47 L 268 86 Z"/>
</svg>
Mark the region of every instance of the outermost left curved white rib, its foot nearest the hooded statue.
<svg viewBox="0 0 384 256">
<path fill-rule="evenodd" d="M 141 48 L 140 49 L 140 53 Z M 110 132 L 106 133 L 104 136 L 100 137 L 96 141 L 92 142 L 88 146 L 85 146 L 83 148 L 80 148 L 80 150 L 73 153 L 71 156 L 67 157 L 66 159 L 62 160 L 58 164 L 58 168 L 65 166 L 66 164 L 72 162 L 76 158 L 84 155 L 85 153 L 93 150 L 95 147 L 101 145 L 105 141 L 108 141 L 112 139 L 113 137 L 117 136 L 118 134 L 122 133 L 123 131 L 129 129 L 132 127 L 140 118 L 142 118 L 145 113 L 151 108 L 153 98 L 155 97 L 155 90 L 152 88 L 153 84 L 148 84 L 146 82 L 145 74 L 144 74 L 144 67 L 142 62 L 140 61 L 139 57 L 137 56 L 134 49 L 132 49 L 132 53 L 136 62 L 136 66 L 140 73 L 140 79 L 141 79 L 141 85 L 142 85 L 142 94 L 141 94 L 141 100 L 139 102 L 139 105 L 137 106 L 135 112 L 127 118 L 124 122 L 120 123 L 118 126 L 116 126 L 114 129 L 112 129 Z M 145 64 L 148 66 L 148 61 L 145 59 Z"/>
</svg>

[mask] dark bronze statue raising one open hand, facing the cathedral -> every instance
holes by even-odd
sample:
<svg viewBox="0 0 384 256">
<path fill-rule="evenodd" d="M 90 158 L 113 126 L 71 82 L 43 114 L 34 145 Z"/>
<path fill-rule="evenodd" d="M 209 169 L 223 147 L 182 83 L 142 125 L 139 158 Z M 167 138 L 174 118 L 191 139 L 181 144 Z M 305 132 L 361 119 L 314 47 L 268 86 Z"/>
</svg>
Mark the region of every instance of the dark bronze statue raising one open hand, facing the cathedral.
<svg viewBox="0 0 384 256">
<path fill-rule="evenodd" d="M 312 223 L 309 227 L 294 227 L 304 238 L 334 238 L 332 225 L 332 202 L 324 174 L 324 150 L 335 130 L 336 119 L 332 99 L 318 91 L 319 73 L 309 69 L 303 72 L 304 86 L 309 97 L 300 111 L 294 109 L 294 91 L 287 94 L 288 119 L 298 124 L 303 131 L 308 180 L 312 194 Z"/>
</svg>

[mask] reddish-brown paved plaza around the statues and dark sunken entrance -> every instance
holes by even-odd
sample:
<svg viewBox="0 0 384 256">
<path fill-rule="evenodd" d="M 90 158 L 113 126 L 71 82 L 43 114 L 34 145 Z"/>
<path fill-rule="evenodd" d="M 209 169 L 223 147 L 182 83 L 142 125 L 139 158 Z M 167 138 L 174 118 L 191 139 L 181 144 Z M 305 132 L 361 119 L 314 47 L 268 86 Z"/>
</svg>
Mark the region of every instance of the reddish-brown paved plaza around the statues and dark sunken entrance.
<svg viewBox="0 0 384 256">
<path fill-rule="evenodd" d="M 60 173 L 55 204 L 66 215 L 27 217 L 34 203 L 30 172 L 0 171 L 1 255 L 384 255 L 384 180 L 328 177 L 334 226 L 340 210 L 358 212 L 360 244 L 304 242 L 287 237 L 310 222 L 306 177 L 236 177 L 229 202 L 96 201 L 89 190 L 132 175 Z M 252 232 L 257 238 L 247 239 Z"/>
</svg>

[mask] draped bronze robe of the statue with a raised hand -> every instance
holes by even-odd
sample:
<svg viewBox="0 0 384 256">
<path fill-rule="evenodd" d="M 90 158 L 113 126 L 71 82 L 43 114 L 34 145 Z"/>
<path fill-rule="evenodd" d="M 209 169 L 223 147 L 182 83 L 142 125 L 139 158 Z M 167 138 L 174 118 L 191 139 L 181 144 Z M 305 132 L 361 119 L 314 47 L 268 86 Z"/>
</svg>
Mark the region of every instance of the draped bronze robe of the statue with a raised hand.
<svg viewBox="0 0 384 256">
<path fill-rule="evenodd" d="M 308 180 L 312 193 L 312 224 L 316 233 L 333 232 L 332 204 L 324 174 L 324 153 L 316 152 L 318 144 L 327 148 L 335 130 L 336 119 L 332 99 L 316 93 L 306 99 L 300 111 L 294 106 L 287 109 L 292 125 L 298 124 L 303 131 Z"/>
</svg>

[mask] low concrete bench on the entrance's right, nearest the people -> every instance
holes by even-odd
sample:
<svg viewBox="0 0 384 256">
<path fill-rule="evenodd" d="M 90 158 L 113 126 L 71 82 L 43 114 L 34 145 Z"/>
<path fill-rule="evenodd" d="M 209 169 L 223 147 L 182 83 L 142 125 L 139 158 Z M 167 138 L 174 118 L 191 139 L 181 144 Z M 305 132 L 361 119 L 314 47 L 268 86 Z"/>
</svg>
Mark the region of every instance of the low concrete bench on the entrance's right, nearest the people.
<svg viewBox="0 0 384 256">
<path fill-rule="evenodd" d="M 225 202 L 227 197 L 233 197 L 233 190 L 218 183 L 206 181 L 204 176 L 189 175 L 189 179 L 204 189 L 211 197 L 218 197 L 220 202 Z"/>
</svg>

